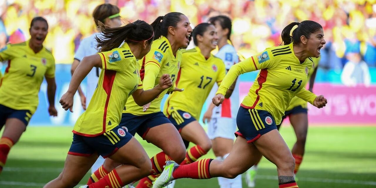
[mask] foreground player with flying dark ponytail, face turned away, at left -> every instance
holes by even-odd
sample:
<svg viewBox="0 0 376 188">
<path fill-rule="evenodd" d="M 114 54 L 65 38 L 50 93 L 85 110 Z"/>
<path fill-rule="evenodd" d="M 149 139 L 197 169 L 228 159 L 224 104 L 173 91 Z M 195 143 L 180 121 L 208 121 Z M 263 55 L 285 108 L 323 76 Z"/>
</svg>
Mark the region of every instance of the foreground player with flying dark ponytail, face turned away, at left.
<svg viewBox="0 0 376 188">
<path fill-rule="evenodd" d="M 138 105 L 149 103 L 172 86 L 171 78 L 164 74 L 153 89 L 144 91 L 142 87 L 137 59 L 150 51 L 154 36 L 152 26 L 137 20 L 123 27 L 101 27 L 102 38 L 96 38 L 101 52 L 85 57 L 78 65 L 60 103 L 65 110 L 72 111 L 74 93 L 93 67 L 103 70 L 98 87 L 74 126 L 73 142 L 62 173 L 45 188 L 76 186 L 98 155 L 124 165 L 86 186 L 89 188 L 121 188 L 151 171 L 151 163 L 141 144 L 119 126 L 121 111 L 130 95 Z"/>
</svg>

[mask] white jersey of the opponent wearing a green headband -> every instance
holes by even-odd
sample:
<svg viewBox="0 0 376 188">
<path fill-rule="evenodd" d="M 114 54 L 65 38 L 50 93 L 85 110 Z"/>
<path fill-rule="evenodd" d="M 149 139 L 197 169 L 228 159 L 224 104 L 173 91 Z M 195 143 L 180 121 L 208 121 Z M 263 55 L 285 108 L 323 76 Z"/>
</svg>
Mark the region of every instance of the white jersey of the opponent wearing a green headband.
<svg viewBox="0 0 376 188">
<path fill-rule="evenodd" d="M 97 41 L 95 37 L 100 35 L 100 33 L 94 33 L 80 42 L 80 45 L 74 55 L 74 59 L 78 61 L 82 61 L 85 56 L 94 55 L 98 52 L 97 48 Z M 87 76 L 87 87 L 86 87 L 86 107 L 88 107 L 90 99 L 94 94 L 95 89 L 97 88 L 98 78 L 100 74 L 100 68 L 94 67 L 89 72 Z"/>
</svg>

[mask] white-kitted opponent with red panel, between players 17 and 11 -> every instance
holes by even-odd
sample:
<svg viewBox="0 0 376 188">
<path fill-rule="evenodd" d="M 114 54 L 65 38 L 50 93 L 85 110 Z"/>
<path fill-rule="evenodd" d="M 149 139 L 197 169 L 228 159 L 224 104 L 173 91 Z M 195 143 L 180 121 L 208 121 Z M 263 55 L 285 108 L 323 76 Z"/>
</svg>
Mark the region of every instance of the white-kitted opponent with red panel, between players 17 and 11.
<svg viewBox="0 0 376 188">
<path fill-rule="evenodd" d="M 219 15 L 209 18 L 209 22 L 215 25 L 218 33 L 218 53 L 215 54 L 221 58 L 226 66 L 226 70 L 230 70 L 231 66 L 239 62 L 239 57 L 233 45 L 229 44 L 232 23 L 229 17 Z M 223 161 L 229 155 L 233 143 L 234 132 L 236 131 L 236 115 L 239 108 L 239 84 L 233 85 L 227 92 L 233 92 L 229 99 L 224 99 L 221 106 L 216 107 L 212 102 L 212 96 L 215 96 L 218 87 L 212 88 L 209 102 L 209 108 L 203 116 L 203 121 L 208 123 L 208 136 L 212 140 L 213 152 L 218 160 Z M 221 188 L 241 188 L 241 176 L 234 179 L 226 179 L 218 177 L 218 184 Z"/>
</svg>

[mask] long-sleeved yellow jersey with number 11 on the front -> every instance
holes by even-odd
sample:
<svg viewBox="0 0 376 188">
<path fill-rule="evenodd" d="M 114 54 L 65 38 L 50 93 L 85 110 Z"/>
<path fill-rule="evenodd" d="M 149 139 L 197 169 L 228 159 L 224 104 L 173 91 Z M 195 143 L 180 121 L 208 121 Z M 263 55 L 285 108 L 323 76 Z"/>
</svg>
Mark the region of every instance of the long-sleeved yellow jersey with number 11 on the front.
<svg viewBox="0 0 376 188">
<path fill-rule="evenodd" d="M 217 93 L 225 94 L 238 75 L 261 70 L 241 106 L 268 111 L 276 124 L 280 124 L 285 109 L 294 96 L 310 103 L 314 101 L 315 94 L 304 88 L 312 64 L 311 58 L 299 61 L 294 55 L 293 43 L 270 47 L 259 55 L 233 65 Z"/>
</svg>

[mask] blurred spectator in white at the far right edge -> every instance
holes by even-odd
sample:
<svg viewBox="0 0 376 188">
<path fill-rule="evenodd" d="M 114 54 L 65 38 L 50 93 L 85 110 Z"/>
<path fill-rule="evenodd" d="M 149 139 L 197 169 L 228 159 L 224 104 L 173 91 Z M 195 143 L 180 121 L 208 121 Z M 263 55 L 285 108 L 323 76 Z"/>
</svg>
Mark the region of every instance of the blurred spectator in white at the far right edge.
<svg viewBox="0 0 376 188">
<path fill-rule="evenodd" d="M 348 53 L 346 58 L 348 61 L 343 67 L 342 83 L 347 86 L 358 84 L 369 86 L 371 82 L 370 71 L 367 64 L 362 61 L 360 53 Z"/>
</svg>

